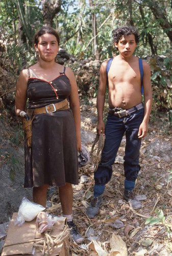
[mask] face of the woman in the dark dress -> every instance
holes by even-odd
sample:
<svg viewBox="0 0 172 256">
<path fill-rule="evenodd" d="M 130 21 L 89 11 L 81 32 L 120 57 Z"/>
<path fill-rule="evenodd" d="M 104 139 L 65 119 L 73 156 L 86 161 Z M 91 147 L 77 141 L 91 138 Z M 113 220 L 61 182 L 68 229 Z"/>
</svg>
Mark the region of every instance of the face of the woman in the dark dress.
<svg viewBox="0 0 172 256">
<path fill-rule="evenodd" d="M 52 61 L 55 59 L 59 45 L 55 35 L 45 33 L 38 39 L 38 45 L 34 45 L 36 51 L 39 53 L 39 59 L 44 61 Z"/>
</svg>

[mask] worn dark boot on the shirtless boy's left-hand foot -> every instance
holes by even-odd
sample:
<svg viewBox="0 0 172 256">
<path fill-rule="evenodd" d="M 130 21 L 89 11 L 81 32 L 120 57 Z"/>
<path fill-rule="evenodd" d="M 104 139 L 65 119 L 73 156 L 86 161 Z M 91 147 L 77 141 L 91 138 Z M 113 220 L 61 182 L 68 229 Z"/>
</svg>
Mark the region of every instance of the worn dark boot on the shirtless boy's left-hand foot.
<svg viewBox="0 0 172 256">
<path fill-rule="evenodd" d="M 90 206 L 87 208 L 86 213 L 90 219 L 93 219 L 97 216 L 97 214 L 99 212 L 99 208 L 102 203 L 102 197 L 103 197 L 103 195 L 100 195 L 99 197 L 94 197 L 90 203 Z"/>
</svg>

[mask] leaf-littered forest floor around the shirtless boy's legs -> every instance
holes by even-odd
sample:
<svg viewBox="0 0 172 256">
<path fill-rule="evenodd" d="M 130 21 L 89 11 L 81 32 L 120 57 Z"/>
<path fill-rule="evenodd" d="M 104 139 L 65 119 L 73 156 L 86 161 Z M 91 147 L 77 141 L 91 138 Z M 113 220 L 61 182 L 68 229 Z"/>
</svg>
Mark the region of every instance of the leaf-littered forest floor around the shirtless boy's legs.
<svg viewBox="0 0 172 256">
<path fill-rule="evenodd" d="M 96 123 L 91 121 L 96 118 L 95 103 L 84 105 L 81 113 L 81 126 L 96 134 Z M 140 150 L 141 170 L 134 189 L 135 195 L 144 199 L 139 210 L 133 210 L 122 196 L 125 137 L 113 165 L 112 178 L 106 185 L 100 213 L 95 219 L 86 215 L 93 196 L 93 163 L 80 169 L 80 184 L 73 186 L 73 218 L 85 241 L 77 245 L 70 240 L 73 256 L 125 256 L 127 252 L 135 256 L 172 255 L 171 135 L 167 116 L 158 114 L 154 117 Z M 87 144 L 89 152 L 91 146 L 92 143 Z M 60 205 L 57 194 L 51 194 L 49 200 Z M 60 214 L 58 207 L 56 214 L 57 209 Z M 151 225 L 145 224 L 150 217 Z"/>
</svg>

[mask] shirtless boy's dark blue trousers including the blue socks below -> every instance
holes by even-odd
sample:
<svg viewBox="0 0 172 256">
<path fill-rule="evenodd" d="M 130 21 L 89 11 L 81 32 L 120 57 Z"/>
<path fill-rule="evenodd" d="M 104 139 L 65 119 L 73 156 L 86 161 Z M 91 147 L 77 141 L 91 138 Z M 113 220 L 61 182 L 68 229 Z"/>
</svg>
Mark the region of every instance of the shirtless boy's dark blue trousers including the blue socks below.
<svg viewBox="0 0 172 256">
<path fill-rule="evenodd" d="M 125 189 L 132 190 L 140 170 L 139 151 L 141 139 L 138 138 L 139 126 L 143 120 L 144 109 L 126 117 L 108 115 L 105 129 L 105 145 L 101 162 L 94 174 L 94 197 L 100 196 L 105 190 L 105 184 L 112 177 L 112 164 L 126 132 L 126 148 L 124 157 Z"/>
</svg>

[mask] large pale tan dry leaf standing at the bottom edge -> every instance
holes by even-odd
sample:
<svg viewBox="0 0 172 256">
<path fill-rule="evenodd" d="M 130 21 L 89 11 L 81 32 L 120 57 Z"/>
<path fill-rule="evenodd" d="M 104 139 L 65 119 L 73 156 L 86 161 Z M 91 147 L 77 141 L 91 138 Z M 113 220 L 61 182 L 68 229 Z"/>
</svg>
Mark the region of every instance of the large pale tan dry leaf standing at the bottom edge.
<svg viewBox="0 0 172 256">
<path fill-rule="evenodd" d="M 109 243 L 111 247 L 109 256 L 128 256 L 126 243 L 120 236 L 116 236 L 113 233 Z"/>
</svg>

